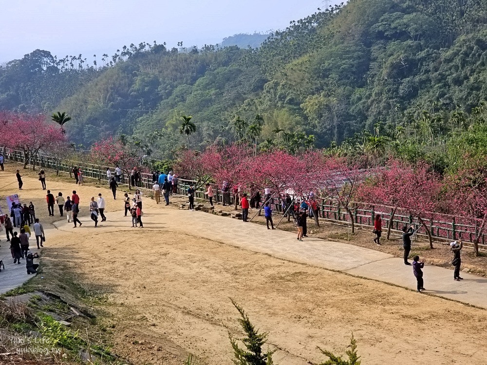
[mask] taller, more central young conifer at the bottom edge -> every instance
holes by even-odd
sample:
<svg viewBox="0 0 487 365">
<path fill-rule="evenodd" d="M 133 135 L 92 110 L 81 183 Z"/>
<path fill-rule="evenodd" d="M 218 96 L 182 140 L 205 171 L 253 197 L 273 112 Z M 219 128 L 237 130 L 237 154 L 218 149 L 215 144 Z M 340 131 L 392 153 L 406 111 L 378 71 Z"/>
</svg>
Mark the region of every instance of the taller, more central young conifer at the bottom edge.
<svg viewBox="0 0 487 365">
<path fill-rule="evenodd" d="M 245 349 L 239 347 L 237 343 L 238 339 L 233 338 L 230 332 L 228 332 L 230 344 L 232 345 L 235 356 L 233 363 L 235 365 L 273 365 L 272 354 L 274 351 L 268 349 L 267 352 L 262 353 L 262 346 L 267 342 L 267 332 L 259 333 L 252 323 L 250 323 L 244 309 L 235 303 L 232 298 L 230 300 L 242 317 L 238 321 L 245 332 L 245 337 L 240 339 Z"/>
</svg>

